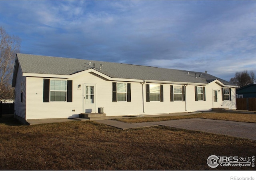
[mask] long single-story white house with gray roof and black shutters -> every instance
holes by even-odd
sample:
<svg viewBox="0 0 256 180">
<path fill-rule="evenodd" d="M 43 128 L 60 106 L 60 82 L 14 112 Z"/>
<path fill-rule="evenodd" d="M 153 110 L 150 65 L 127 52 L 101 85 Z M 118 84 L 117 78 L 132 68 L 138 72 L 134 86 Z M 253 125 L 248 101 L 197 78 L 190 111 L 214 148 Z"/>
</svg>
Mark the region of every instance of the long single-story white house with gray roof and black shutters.
<svg viewBox="0 0 256 180">
<path fill-rule="evenodd" d="M 237 86 L 204 72 L 17 54 L 15 117 L 74 118 L 236 109 Z"/>
</svg>

